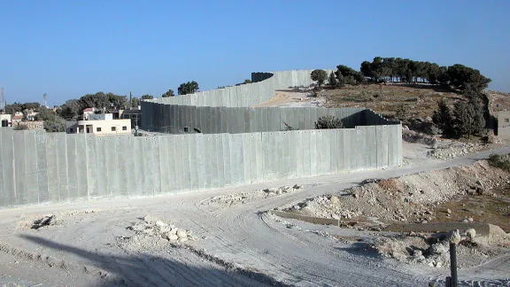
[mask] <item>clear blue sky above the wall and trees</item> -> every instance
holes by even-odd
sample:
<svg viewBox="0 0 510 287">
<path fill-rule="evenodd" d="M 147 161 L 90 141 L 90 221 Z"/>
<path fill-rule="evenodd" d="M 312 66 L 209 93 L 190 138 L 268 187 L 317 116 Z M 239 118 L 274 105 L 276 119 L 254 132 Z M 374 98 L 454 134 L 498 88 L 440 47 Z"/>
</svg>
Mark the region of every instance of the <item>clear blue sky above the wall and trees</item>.
<svg viewBox="0 0 510 287">
<path fill-rule="evenodd" d="M 471 66 L 510 92 L 509 15 L 507 0 L 0 0 L 0 87 L 8 104 L 160 97 L 380 56 Z"/>
</svg>

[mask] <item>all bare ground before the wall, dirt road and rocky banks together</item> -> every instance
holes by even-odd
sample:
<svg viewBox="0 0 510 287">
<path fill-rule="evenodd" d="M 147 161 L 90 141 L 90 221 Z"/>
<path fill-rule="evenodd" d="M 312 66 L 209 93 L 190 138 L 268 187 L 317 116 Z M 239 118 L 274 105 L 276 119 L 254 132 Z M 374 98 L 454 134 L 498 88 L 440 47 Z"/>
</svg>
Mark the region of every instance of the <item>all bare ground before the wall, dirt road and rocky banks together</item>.
<svg viewBox="0 0 510 287">
<path fill-rule="evenodd" d="M 487 218 L 506 229 L 502 224 L 507 216 L 506 206 L 487 201 L 485 205 L 493 208 L 484 209 L 477 217 L 481 210 L 470 205 L 481 204 L 483 198 L 506 197 L 510 178 L 484 161 L 475 163 L 492 151 L 438 160 L 416 156 L 420 149 L 414 146 L 406 151 L 408 164 L 398 168 L 189 191 L 157 198 L 101 198 L 2 210 L 0 283 L 8 286 L 443 283 L 449 273 L 444 260 L 448 236 L 385 232 L 384 226 L 396 221 L 444 221 L 447 214 L 452 221 L 470 218 L 481 221 L 491 214 Z M 495 152 L 508 153 L 510 148 Z M 333 196 L 336 199 L 331 200 Z M 448 206 L 456 202 L 457 206 Z M 462 204 L 465 206 L 460 207 Z M 324 226 L 267 213 L 281 206 L 290 209 L 298 206 L 295 212 L 305 210 L 319 217 L 331 218 L 336 214 L 342 221 L 356 223 Z M 481 237 L 467 230 L 461 230 L 460 237 L 461 286 L 510 283 L 510 254 L 504 240 L 480 241 Z"/>
</svg>

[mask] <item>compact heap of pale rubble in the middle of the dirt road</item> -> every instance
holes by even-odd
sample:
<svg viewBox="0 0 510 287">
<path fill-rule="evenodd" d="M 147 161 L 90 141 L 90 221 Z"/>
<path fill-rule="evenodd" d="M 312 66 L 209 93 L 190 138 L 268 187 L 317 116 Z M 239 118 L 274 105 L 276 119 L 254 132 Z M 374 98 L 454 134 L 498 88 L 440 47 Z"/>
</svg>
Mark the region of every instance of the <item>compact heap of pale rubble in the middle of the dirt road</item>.
<svg viewBox="0 0 510 287">
<path fill-rule="evenodd" d="M 191 230 L 179 229 L 154 216 L 146 215 L 141 221 L 135 222 L 128 229 L 135 231 L 138 236 L 159 237 L 170 243 L 183 243 L 188 240 L 197 240 Z"/>
</svg>

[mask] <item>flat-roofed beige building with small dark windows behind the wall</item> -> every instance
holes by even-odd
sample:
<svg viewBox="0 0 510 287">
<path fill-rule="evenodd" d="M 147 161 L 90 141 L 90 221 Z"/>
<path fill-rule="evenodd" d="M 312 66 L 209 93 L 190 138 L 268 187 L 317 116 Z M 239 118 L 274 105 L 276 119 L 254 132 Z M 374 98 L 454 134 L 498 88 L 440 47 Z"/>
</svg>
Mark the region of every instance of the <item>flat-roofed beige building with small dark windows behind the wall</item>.
<svg viewBox="0 0 510 287">
<path fill-rule="evenodd" d="M 67 134 L 97 136 L 130 135 L 131 120 L 74 120 L 66 121 Z"/>
</svg>

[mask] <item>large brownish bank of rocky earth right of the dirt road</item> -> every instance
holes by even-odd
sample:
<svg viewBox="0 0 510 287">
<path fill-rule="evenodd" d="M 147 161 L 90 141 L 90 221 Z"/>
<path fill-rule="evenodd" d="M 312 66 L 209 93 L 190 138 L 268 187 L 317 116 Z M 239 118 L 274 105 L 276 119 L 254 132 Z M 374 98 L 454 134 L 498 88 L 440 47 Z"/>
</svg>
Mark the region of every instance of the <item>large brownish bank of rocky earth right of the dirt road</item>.
<svg viewBox="0 0 510 287">
<path fill-rule="evenodd" d="M 448 213 L 447 210 L 435 211 L 435 207 L 450 201 L 454 196 L 491 196 L 492 188 L 506 182 L 510 182 L 509 174 L 490 167 L 483 160 L 465 167 L 399 178 L 366 180 L 358 187 L 308 198 L 279 209 L 305 216 L 351 222 L 348 224 L 350 226 L 363 221 L 371 221 L 376 227 L 392 221 L 427 223 L 436 217 L 437 212 Z M 469 221 L 468 218 L 466 220 Z"/>
</svg>

